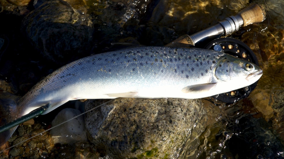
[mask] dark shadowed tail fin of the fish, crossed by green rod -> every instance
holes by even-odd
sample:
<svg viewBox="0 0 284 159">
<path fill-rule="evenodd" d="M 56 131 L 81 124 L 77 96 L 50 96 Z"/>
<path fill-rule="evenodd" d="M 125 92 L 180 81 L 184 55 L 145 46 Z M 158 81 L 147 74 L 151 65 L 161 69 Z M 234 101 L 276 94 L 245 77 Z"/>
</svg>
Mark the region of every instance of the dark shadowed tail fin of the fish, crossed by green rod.
<svg viewBox="0 0 284 159">
<path fill-rule="evenodd" d="M 17 110 L 17 101 L 19 96 L 13 95 L 7 91 L 0 89 L 0 126 L 14 121 L 19 116 Z M 5 144 L 12 136 L 17 126 L 0 133 L 0 146 Z"/>
</svg>

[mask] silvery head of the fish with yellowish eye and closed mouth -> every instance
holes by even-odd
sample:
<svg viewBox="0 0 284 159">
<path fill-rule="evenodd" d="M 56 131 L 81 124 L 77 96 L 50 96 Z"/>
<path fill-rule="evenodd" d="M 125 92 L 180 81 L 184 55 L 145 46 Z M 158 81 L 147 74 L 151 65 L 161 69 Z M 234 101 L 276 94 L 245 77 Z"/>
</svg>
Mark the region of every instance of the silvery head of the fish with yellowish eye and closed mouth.
<svg viewBox="0 0 284 159">
<path fill-rule="evenodd" d="M 249 86 L 262 76 L 262 69 L 256 64 L 231 55 L 222 56 L 216 63 L 215 77 L 234 89 Z"/>
</svg>

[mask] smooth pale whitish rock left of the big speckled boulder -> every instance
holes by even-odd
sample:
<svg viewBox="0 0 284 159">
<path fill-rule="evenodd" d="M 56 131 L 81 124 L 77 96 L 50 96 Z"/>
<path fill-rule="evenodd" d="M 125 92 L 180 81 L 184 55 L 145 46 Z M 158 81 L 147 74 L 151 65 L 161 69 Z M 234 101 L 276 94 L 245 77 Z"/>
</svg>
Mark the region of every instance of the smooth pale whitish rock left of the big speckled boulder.
<svg viewBox="0 0 284 159">
<path fill-rule="evenodd" d="M 79 114 L 81 114 L 81 112 L 77 109 L 63 109 L 52 121 L 52 126 L 58 125 Z M 50 134 L 54 139 L 54 143 L 73 144 L 77 141 L 87 141 L 83 116 L 79 116 L 67 123 L 51 129 Z"/>
</svg>

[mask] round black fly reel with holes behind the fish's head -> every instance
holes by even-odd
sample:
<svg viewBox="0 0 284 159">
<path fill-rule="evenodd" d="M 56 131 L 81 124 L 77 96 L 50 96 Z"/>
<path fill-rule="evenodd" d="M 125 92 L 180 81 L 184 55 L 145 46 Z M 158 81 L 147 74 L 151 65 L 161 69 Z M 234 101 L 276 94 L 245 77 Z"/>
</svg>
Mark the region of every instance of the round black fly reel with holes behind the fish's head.
<svg viewBox="0 0 284 159">
<path fill-rule="evenodd" d="M 221 51 L 258 65 L 258 60 L 252 50 L 245 43 L 234 38 L 219 38 L 213 40 L 205 46 L 205 49 Z M 255 89 L 257 82 L 241 89 L 211 96 L 211 98 L 227 104 L 235 103 L 240 99 L 248 97 L 249 93 Z"/>
</svg>

